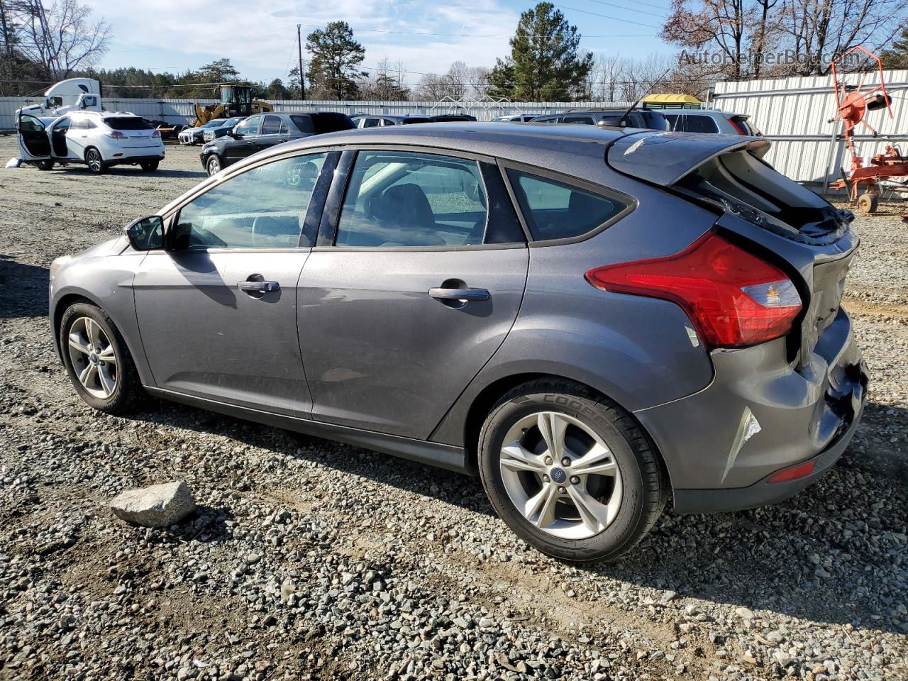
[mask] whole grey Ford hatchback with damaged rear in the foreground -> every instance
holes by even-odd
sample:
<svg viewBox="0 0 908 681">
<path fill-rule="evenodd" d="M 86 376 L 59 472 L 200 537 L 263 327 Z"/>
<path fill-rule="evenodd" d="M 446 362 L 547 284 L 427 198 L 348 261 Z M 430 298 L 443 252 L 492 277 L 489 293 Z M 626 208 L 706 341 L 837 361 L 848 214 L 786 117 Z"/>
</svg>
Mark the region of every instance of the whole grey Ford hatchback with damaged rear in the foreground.
<svg viewBox="0 0 908 681">
<path fill-rule="evenodd" d="M 752 508 L 834 464 L 867 384 L 851 213 L 764 140 L 466 127 L 282 144 L 54 261 L 76 393 L 478 472 L 574 561 L 632 548 L 668 498 Z"/>
</svg>

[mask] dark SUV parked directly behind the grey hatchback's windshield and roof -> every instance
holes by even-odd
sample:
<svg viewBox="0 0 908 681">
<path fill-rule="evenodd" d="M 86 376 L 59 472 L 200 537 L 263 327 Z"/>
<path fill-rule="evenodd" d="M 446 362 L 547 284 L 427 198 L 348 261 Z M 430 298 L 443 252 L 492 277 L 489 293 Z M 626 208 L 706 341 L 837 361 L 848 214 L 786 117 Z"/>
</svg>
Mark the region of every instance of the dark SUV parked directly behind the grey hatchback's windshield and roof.
<svg viewBox="0 0 908 681">
<path fill-rule="evenodd" d="M 256 114 L 223 137 L 205 143 L 199 158 L 207 173 L 214 175 L 222 168 L 275 144 L 355 127 L 350 116 L 333 112 Z"/>
</svg>

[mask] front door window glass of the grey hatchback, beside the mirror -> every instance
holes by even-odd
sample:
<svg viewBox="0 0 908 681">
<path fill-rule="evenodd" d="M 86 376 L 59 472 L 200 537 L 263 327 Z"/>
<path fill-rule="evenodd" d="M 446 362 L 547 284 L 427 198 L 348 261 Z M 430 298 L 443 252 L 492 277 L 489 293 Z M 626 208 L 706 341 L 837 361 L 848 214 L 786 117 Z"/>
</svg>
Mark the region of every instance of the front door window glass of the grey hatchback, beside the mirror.
<svg viewBox="0 0 908 681">
<path fill-rule="evenodd" d="M 299 247 L 312 191 L 327 155 L 281 159 L 212 187 L 180 210 L 170 247 L 179 251 Z"/>
</svg>

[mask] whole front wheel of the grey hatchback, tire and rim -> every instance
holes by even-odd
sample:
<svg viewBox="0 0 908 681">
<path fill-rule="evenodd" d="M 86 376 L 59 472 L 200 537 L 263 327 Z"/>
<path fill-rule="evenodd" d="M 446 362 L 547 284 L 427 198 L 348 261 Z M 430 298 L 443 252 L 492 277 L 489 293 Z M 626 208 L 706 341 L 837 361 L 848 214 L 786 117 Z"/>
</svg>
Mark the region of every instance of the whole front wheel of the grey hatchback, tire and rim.
<svg viewBox="0 0 908 681">
<path fill-rule="evenodd" d="M 60 321 L 59 340 L 69 379 L 90 407 L 124 414 L 143 400 L 139 372 L 106 312 L 87 302 L 70 305 Z"/>
</svg>

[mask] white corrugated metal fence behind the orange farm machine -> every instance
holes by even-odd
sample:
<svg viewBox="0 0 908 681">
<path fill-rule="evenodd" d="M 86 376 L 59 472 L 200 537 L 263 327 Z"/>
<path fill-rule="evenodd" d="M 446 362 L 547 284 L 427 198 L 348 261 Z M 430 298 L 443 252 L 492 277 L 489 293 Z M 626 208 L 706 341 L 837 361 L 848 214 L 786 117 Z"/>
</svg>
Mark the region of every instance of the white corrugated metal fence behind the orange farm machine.
<svg viewBox="0 0 908 681">
<path fill-rule="evenodd" d="M 864 90 L 879 83 L 879 73 L 863 74 Z M 863 125 L 855 129 L 855 143 L 861 155 L 870 158 L 882 153 L 887 144 L 908 141 L 908 70 L 883 72 L 886 92 L 893 97 L 893 117 L 885 111 L 868 112 L 865 120 L 879 133 Z M 862 74 L 845 74 L 844 82 L 858 84 Z M 823 184 L 839 177 L 839 168 L 848 170 L 850 161 L 840 135 L 841 122 L 829 123 L 835 114 L 832 76 L 805 76 L 777 80 L 716 84 L 717 109 L 747 114 L 773 147 L 766 160 L 801 183 Z"/>
</svg>

